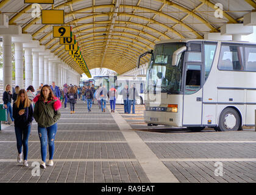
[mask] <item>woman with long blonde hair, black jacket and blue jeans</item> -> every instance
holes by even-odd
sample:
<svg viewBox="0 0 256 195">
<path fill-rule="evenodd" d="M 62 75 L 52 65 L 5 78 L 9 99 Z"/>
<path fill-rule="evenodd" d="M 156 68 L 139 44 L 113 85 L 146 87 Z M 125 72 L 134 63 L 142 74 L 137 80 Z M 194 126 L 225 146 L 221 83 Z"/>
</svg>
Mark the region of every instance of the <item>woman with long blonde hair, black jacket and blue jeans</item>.
<svg viewBox="0 0 256 195">
<path fill-rule="evenodd" d="M 16 146 L 18 149 L 18 163 L 21 163 L 23 155 L 23 165 L 29 166 L 27 163 L 27 153 L 29 151 L 29 134 L 33 118 L 33 105 L 27 96 L 26 90 L 19 91 L 16 101 L 13 103 L 13 118 L 16 135 Z M 23 146 L 23 153 L 22 153 Z"/>
</svg>

